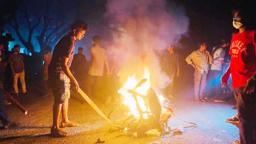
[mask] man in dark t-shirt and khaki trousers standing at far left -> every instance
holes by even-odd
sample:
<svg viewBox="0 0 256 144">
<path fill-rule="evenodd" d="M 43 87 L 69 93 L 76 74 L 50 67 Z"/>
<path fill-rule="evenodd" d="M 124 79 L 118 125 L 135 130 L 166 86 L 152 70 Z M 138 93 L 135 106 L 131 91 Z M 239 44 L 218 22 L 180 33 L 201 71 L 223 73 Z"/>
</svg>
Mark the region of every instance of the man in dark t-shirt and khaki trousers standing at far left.
<svg viewBox="0 0 256 144">
<path fill-rule="evenodd" d="M 23 55 L 20 52 L 20 45 L 14 45 L 14 53 L 12 53 L 9 57 L 10 66 L 12 69 L 13 76 L 13 87 L 14 94 L 19 95 L 18 89 L 18 78 L 20 78 L 20 83 L 22 87 L 22 92 L 26 95 L 26 83 L 25 83 L 25 70 L 23 63 Z"/>
</svg>

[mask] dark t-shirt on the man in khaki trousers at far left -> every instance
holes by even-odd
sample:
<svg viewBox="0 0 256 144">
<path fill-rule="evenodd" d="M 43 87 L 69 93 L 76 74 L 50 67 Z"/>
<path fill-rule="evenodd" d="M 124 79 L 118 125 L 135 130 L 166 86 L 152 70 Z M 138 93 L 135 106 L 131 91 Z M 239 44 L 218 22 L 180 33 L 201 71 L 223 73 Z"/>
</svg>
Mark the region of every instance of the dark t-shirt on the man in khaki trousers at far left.
<svg viewBox="0 0 256 144">
<path fill-rule="evenodd" d="M 23 67 L 23 55 L 21 53 L 12 53 L 9 57 L 9 61 L 12 62 L 12 67 L 15 73 L 21 73 L 24 70 Z"/>
</svg>

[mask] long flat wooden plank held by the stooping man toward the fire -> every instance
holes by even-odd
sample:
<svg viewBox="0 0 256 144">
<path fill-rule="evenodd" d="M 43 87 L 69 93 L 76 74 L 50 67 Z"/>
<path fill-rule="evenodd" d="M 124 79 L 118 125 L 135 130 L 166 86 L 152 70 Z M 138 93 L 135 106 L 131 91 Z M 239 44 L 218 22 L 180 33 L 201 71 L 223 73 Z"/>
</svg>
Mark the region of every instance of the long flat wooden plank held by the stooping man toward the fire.
<svg viewBox="0 0 256 144">
<path fill-rule="evenodd" d="M 80 95 L 87 101 L 87 103 L 89 103 L 89 105 L 92 106 L 92 108 L 98 113 L 100 114 L 100 116 L 109 124 L 113 124 L 113 122 L 110 121 L 110 119 L 107 118 L 107 116 L 100 110 L 100 108 L 98 108 L 95 103 L 84 93 L 84 91 L 82 91 L 82 89 L 79 88 L 78 93 L 80 93 Z"/>
</svg>

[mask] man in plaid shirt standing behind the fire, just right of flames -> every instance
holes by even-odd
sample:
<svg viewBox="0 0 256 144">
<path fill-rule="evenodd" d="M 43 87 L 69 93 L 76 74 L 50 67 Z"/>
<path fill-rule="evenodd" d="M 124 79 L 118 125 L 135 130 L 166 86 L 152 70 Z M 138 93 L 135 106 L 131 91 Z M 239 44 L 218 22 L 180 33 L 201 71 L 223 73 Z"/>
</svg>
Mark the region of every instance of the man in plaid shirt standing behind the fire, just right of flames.
<svg viewBox="0 0 256 144">
<path fill-rule="evenodd" d="M 173 51 L 173 47 L 167 46 L 167 53 L 164 53 L 162 59 L 162 71 L 165 71 L 166 74 L 170 77 L 170 84 L 166 87 L 164 95 L 168 98 L 173 98 L 173 81 L 174 77 L 180 75 L 179 67 L 179 56 Z"/>
</svg>

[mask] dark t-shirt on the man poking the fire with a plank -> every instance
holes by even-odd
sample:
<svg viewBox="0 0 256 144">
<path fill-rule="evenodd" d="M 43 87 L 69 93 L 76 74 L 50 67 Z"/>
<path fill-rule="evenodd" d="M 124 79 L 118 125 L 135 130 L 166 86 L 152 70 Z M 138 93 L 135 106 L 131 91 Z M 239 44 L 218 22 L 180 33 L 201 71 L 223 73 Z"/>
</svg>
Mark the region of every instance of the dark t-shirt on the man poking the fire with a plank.
<svg viewBox="0 0 256 144">
<path fill-rule="evenodd" d="M 74 53 L 74 47 L 75 47 L 75 40 L 72 36 L 72 34 L 67 34 L 66 36 L 62 37 L 60 41 L 56 44 L 54 47 L 53 53 L 52 53 L 52 60 L 48 67 L 48 74 L 50 75 L 56 75 L 56 74 L 64 74 L 60 67 L 60 58 L 61 57 L 68 57 L 68 67 L 70 67 L 73 59 L 73 53 Z"/>
</svg>

